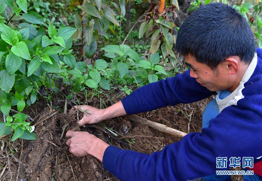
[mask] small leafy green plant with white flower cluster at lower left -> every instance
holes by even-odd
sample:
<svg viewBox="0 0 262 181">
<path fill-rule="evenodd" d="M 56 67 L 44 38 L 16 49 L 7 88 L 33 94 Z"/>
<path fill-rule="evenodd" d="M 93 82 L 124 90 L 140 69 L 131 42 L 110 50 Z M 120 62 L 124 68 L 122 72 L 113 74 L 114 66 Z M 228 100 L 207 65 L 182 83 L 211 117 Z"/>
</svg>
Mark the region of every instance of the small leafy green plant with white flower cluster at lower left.
<svg viewBox="0 0 262 181">
<path fill-rule="evenodd" d="M 13 120 L 14 119 L 14 120 Z M 17 113 L 13 117 L 8 116 L 5 122 L 0 122 L 0 136 L 9 135 L 14 131 L 11 141 L 17 138 L 22 138 L 26 140 L 35 140 L 36 135 L 33 132 L 35 127 L 29 126 L 30 122 L 26 122 L 27 115 L 23 113 Z"/>
</svg>

